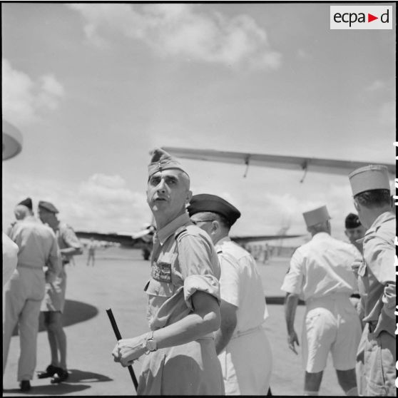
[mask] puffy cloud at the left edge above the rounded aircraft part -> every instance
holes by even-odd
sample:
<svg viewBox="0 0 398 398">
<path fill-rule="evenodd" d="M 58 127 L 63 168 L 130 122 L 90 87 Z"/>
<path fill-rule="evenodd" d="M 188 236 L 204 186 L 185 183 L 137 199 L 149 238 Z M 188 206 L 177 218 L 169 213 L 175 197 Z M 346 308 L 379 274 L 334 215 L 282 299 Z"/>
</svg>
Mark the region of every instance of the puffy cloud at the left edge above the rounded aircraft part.
<svg viewBox="0 0 398 398">
<path fill-rule="evenodd" d="M 58 108 L 65 95 L 61 83 L 49 74 L 33 81 L 26 73 L 1 60 L 3 117 L 17 126 L 39 121 L 46 111 Z"/>
</svg>

